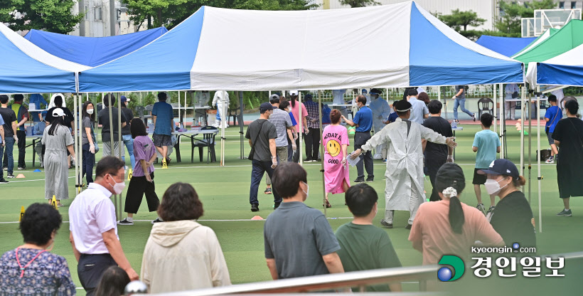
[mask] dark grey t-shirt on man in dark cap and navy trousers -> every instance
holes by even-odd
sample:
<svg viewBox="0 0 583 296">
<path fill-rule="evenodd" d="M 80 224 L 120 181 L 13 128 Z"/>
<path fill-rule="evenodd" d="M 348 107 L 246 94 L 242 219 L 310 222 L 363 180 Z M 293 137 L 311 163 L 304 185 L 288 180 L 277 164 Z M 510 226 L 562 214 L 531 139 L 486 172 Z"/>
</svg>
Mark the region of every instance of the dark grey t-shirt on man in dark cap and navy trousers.
<svg viewBox="0 0 583 296">
<path fill-rule="evenodd" d="M 251 139 L 251 142 L 255 144 L 253 159 L 260 162 L 272 161 L 272 152 L 269 151 L 269 139 L 277 138 L 277 130 L 271 122 L 262 119 L 251 122 L 247 127 L 245 138 Z"/>
</svg>

